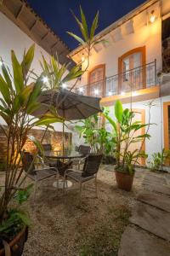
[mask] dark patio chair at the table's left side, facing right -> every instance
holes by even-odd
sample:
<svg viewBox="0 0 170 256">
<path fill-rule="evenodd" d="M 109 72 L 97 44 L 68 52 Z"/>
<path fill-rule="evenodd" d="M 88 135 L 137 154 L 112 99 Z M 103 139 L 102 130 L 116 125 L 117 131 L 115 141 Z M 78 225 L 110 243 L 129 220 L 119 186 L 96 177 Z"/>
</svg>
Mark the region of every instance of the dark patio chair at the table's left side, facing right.
<svg viewBox="0 0 170 256">
<path fill-rule="evenodd" d="M 51 176 L 58 177 L 58 170 L 56 167 L 42 166 L 41 168 L 35 167 L 33 162 L 33 156 L 29 152 L 23 151 L 21 153 L 22 165 L 26 172 L 26 176 L 30 177 L 34 181 L 34 201 L 36 198 L 37 183 Z M 39 165 L 39 163 L 38 163 Z"/>
</svg>

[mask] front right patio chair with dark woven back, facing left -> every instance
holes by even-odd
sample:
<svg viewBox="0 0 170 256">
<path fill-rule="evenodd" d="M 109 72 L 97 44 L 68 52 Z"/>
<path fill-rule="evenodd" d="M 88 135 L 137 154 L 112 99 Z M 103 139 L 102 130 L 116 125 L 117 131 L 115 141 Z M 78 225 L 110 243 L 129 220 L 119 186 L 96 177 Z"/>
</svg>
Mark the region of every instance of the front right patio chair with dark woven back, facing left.
<svg viewBox="0 0 170 256">
<path fill-rule="evenodd" d="M 86 157 L 82 172 L 68 169 L 65 171 L 65 180 L 70 177 L 80 185 L 80 200 L 82 199 L 82 189 L 85 183 L 94 180 L 95 195 L 97 197 L 97 173 L 102 160 L 103 154 L 89 154 Z"/>
</svg>

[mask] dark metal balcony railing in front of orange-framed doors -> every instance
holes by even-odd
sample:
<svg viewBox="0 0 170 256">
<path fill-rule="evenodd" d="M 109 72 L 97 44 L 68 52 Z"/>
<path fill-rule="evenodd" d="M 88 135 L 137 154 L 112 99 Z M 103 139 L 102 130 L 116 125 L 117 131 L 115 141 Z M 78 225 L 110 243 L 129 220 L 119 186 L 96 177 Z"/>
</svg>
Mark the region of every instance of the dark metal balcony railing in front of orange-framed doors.
<svg viewBox="0 0 170 256">
<path fill-rule="evenodd" d="M 87 96 L 114 96 L 156 85 L 156 61 L 127 70 L 93 84 L 78 87 L 76 92 Z"/>
</svg>

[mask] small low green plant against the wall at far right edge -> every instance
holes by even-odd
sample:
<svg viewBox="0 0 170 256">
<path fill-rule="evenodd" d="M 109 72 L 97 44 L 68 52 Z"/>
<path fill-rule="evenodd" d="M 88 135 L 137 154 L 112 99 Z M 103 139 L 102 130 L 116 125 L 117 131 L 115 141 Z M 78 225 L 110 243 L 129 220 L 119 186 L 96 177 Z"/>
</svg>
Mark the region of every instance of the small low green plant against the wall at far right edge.
<svg viewBox="0 0 170 256">
<path fill-rule="evenodd" d="M 160 167 L 165 165 L 170 160 L 170 150 L 162 149 L 161 152 L 151 155 L 151 160 L 148 161 L 148 168 L 151 171 L 160 170 Z"/>
</svg>

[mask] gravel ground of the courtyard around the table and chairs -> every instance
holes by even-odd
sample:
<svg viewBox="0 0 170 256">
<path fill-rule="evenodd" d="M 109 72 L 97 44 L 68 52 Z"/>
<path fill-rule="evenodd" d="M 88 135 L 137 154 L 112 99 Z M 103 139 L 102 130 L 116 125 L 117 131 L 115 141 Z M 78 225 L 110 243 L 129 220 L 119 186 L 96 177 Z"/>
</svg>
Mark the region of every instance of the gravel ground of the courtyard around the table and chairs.
<svg viewBox="0 0 170 256">
<path fill-rule="evenodd" d="M 32 198 L 26 203 L 31 227 L 23 256 L 117 255 L 144 171 L 136 172 L 132 192 L 116 188 L 112 171 L 113 166 L 101 166 L 98 198 L 85 188 L 81 205 L 75 186 L 64 194 L 53 187 L 54 177 L 43 181 L 35 204 Z"/>
</svg>

